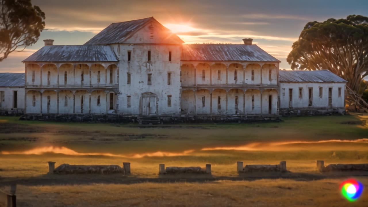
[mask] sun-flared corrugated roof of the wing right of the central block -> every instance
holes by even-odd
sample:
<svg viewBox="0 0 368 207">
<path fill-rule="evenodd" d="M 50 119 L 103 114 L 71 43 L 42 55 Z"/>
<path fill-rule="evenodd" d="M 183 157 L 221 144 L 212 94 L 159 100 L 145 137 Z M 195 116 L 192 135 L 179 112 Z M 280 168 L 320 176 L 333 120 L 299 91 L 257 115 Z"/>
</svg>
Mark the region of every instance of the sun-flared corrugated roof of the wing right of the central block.
<svg viewBox="0 0 368 207">
<path fill-rule="evenodd" d="M 268 61 L 280 62 L 257 45 L 192 44 L 183 45 L 181 60 Z"/>
</svg>

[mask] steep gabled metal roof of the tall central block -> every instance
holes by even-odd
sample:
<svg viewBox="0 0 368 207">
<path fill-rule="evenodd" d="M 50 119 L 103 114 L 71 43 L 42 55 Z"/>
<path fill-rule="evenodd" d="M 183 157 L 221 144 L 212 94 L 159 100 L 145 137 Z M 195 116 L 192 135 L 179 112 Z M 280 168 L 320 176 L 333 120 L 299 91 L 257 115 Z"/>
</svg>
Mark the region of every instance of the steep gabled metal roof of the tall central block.
<svg viewBox="0 0 368 207">
<path fill-rule="evenodd" d="M 97 35 L 95 35 L 92 39 L 85 43 L 85 45 L 105 45 L 105 44 L 117 44 L 124 43 L 127 39 L 129 39 L 135 32 L 139 29 L 143 28 L 146 24 L 151 21 L 155 21 L 158 24 L 157 20 L 153 17 L 148 17 L 140 20 L 132 20 L 126 22 L 118 22 L 112 23 Z M 160 24 L 161 25 L 161 24 Z M 161 25 L 167 31 L 170 31 L 163 25 Z M 180 43 L 184 43 L 177 35 L 175 36 Z"/>
</svg>

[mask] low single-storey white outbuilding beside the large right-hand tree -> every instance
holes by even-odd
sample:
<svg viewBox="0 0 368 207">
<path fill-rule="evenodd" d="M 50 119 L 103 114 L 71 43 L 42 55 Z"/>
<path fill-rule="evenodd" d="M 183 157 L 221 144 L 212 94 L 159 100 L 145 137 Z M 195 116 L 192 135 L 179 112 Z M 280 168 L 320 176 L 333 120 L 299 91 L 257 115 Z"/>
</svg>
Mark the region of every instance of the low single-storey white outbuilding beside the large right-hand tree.
<svg viewBox="0 0 368 207">
<path fill-rule="evenodd" d="M 280 70 L 280 115 L 345 112 L 347 81 L 329 70 Z"/>
</svg>

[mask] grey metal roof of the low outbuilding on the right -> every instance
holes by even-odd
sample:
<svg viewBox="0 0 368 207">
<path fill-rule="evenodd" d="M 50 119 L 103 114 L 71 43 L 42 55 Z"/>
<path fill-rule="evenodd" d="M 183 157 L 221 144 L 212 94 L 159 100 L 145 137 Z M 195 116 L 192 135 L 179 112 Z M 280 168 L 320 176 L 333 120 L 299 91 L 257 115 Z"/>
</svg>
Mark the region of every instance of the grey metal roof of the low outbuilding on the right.
<svg viewBox="0 0 368 207">
<path fill-rule="evenodd" d="M 280 82 L 337 82 L 346 83 L 329 70 L 280 70 Z"/>
</svg>

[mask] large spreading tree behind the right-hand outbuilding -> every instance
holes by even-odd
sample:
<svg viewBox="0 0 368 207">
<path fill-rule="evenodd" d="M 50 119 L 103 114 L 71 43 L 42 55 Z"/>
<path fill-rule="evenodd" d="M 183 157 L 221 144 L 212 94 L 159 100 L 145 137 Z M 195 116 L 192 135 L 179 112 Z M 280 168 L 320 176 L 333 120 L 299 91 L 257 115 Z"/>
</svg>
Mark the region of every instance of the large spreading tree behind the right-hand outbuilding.
<svg viewBox="0 0 368 207">
<path fill-rule="evenodd" d="M 291 69 L 328 69 L 361 97 L 360 83 L 368 76 L 368 17 L 308 22 L 292 48 L 287 57 Z"/>
</svg>

